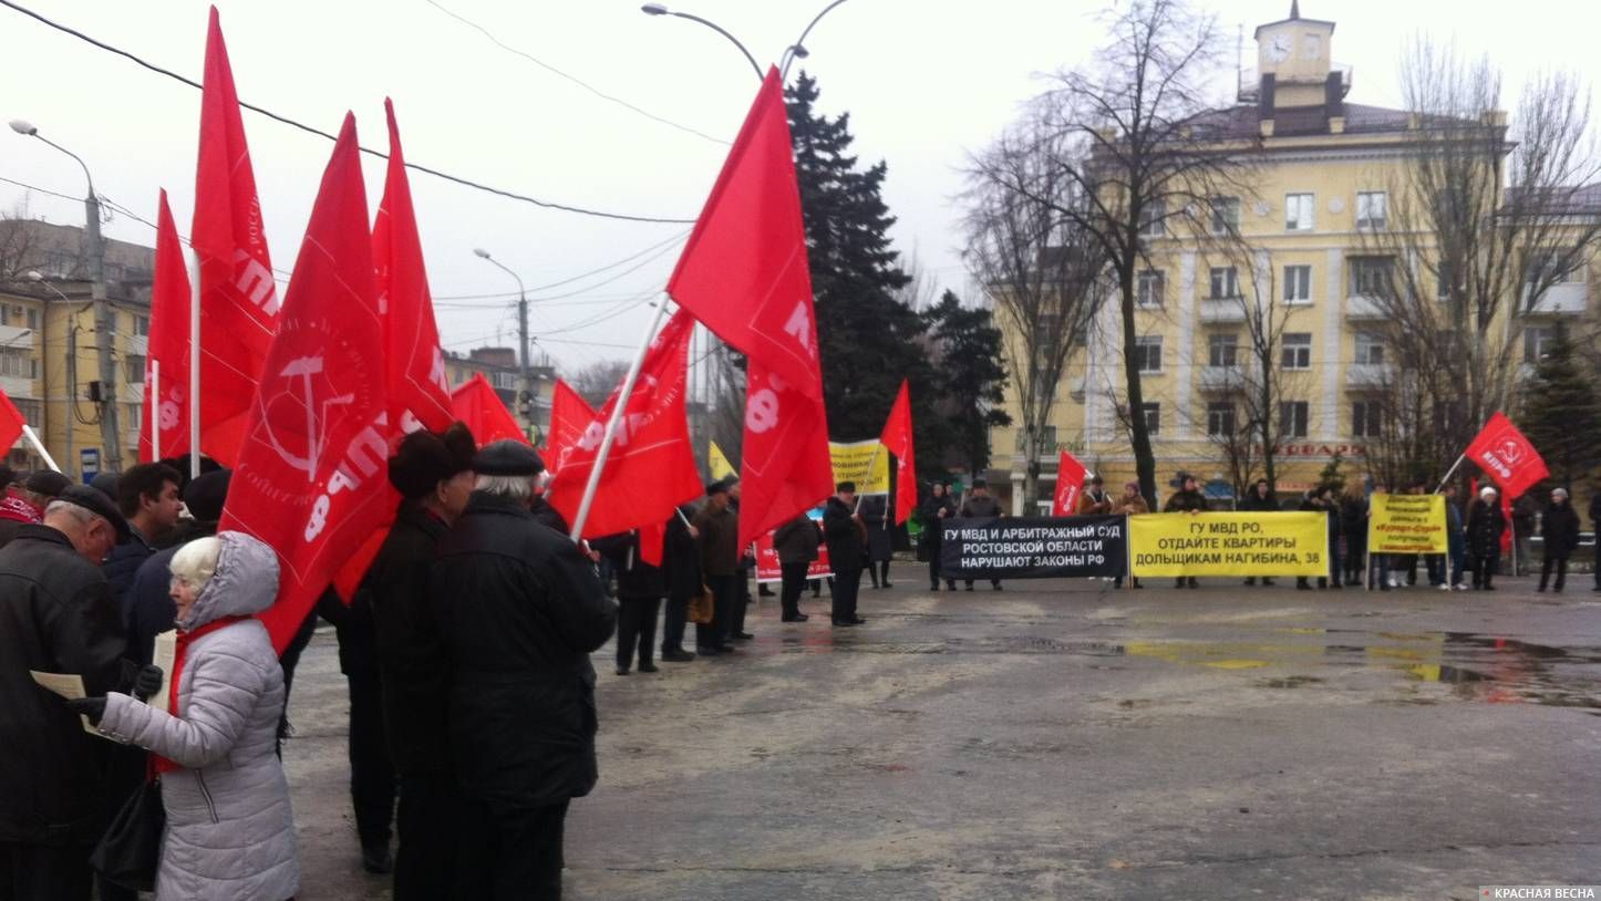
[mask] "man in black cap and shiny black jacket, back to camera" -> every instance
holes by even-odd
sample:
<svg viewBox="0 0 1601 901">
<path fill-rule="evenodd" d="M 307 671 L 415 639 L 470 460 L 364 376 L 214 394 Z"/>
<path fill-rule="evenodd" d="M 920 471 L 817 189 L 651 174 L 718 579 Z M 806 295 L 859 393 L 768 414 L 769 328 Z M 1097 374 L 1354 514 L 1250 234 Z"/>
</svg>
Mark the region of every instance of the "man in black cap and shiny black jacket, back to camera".
<svg viewBox="0 0 1601 901">
<path fill-rule="evenodd" d="M 596 770 L 596 671 L 616 605 L 592 562 L 528 511 L 540 456 L 495 442 L 429 578 L 453 680 L 450 746 L 463 799 L 456 893 L 560 898 L 567 805 Z"/>
</svg>

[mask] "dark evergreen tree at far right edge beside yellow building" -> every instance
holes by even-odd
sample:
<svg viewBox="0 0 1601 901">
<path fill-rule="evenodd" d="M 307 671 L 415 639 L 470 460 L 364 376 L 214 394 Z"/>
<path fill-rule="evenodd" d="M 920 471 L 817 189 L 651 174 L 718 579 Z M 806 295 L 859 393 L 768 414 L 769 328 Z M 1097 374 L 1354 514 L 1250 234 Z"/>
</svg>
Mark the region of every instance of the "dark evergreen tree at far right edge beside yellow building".
<svg viewBox="0 0 1601 901">
<path fill-rule="evenodd" d="M 1574 357 L 1574 346 L 1563 328 L 1556 330 L 1545 355 L 1524 389 L 1518 426 L 1534 442 L 1551 477 L 1572 485 L 1601 463 L 1601 402 L 1595 384 Z"/>
</svg>

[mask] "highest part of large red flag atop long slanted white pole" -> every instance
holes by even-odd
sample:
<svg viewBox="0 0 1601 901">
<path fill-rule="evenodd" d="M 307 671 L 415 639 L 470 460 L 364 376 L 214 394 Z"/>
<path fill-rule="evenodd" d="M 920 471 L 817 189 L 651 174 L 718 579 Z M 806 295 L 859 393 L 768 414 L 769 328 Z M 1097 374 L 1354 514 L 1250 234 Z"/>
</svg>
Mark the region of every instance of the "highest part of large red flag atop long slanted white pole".
<svg viewBox="0 0 1601 901">
<path fill-rule="evenodd" d="M 821 397 L 823 384 L 813 378 L 812 275 L 778 69 L 768 69 L 756 94 L 668 293 L 792 390 Z"/>
</svg>

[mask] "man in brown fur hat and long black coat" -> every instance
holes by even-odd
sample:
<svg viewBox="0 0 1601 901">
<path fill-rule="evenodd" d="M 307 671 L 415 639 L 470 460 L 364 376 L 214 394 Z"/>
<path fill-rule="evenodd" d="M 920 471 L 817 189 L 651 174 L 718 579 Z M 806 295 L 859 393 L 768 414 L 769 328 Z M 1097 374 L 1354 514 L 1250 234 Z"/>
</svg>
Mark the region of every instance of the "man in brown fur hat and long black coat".
<svg viewBox="0 0 1601 901">
<path fill-rule="evenodd" d="M 351 797 L 363 839 L 363 864 L 370 871 L 383 869 L 373 866 L 389 863 L 389 811 L 378 810 L 384 797 L 381 778 L 386 770 L 399 778 L 395 901 L 451 898 L 455 893 L 459 799 L 445 714 L 450 661 L 434 618 L 429 573 L 439 543 L 466 511 L 475 450 L 472 434 L 461 422 L 443 435 L 411 432 L 400 442 L 389 458 L 389 483 L 400 491 L 400 511 L 349 610 L 352 619 L 360 616 L 370 629 L 365 647 L 371 656 L 346 671 L 351 680 Z M 354 627 L 339 632 L 341 669 L 346 669 L 344 637 Z M 351 650 L 355 650 L 354 642 Z M 370 671 L 378 685 L 368 685 Z M 373 709 L 357 714 L 359 699 Z M 391 800 L 392 792 L 391 787 Z M 371 800 L 363 803 L 363 799 Z M 363 816 L 368 819 L 365 827 Z M 367 837 L 375 832 L 384 840 L 368 848 Z"/>
</svg>

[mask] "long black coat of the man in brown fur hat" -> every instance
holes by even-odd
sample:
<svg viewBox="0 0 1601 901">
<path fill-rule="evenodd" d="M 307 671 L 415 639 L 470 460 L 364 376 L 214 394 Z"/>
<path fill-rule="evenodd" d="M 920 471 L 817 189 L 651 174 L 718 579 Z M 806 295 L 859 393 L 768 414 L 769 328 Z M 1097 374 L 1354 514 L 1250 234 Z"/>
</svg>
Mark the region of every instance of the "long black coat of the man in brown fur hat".
<svg viewBox="0 0 1601 901">
<path fill-rule="evenodd" d="M 402 503 L 355 592 L 371 618 L 389 757 L 402 776 L 450 768 L 450 659 L 429 594 L 434 552 L 448 531 L 439 517 Z"/>
</svg>

